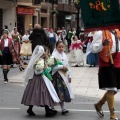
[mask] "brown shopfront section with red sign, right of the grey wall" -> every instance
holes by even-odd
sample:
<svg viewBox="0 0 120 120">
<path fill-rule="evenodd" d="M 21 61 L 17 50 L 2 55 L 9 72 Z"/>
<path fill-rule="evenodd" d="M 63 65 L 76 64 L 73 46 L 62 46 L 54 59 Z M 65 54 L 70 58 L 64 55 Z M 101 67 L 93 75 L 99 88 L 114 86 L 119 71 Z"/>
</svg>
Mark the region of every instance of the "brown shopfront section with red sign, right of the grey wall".
<svg viewBox="0 0 120 120">
<path fill-rule="evenodd" d="M 17 27 L 21 33 L 36 23 L 39 23 L 43 28 L 52 27 L 52 2 L 52 0 L 17 0 Z M 54 8 L 56 9 L 56 7 L 57 0 L 54 2 Z M 24 8 L 25 11 L 31 11 L 31 13 L 19 12 L 19 8 L 21 11 Z M 56 27 L 56 18 L 53 19 L 53 27 Z"/>
</svg>

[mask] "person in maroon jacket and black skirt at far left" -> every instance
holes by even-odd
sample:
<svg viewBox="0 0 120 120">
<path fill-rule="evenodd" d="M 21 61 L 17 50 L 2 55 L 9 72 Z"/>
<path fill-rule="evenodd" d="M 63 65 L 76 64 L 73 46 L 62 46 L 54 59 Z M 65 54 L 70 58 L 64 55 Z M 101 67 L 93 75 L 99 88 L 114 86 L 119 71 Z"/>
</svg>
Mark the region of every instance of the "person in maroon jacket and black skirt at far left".
<svg viewBox="0 0 120 120">
<path fill-rule="evenodd" d="M 12 39 L 8 37 L 9 31 L 4 30 L 3 36 L 0 42 L 0 64 L 3 66 L 4 83 L 8 83 L 8 72 L 10 65 L 13 62 L 17 62 L 16 53 L 13 47 Z"/>
</svg>

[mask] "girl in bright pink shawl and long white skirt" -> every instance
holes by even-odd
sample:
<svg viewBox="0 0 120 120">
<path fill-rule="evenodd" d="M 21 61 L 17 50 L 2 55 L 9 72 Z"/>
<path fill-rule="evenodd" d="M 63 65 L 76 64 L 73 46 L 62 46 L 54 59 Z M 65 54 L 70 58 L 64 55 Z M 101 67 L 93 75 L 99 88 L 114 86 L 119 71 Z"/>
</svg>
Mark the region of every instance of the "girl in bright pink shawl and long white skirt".
<svg viewBox="0 0 120 120">
<path fill-rule="evenodd" d="M 83 66 L 84 65 L 84 57 L 83 57 L 83 44 L 80 40 L 78 40 L 77 36 L 73 37 L 73 42 L 70 46 L 70 56 L 69 56 L 69 64 L 70 66 Z"/>
</svg>

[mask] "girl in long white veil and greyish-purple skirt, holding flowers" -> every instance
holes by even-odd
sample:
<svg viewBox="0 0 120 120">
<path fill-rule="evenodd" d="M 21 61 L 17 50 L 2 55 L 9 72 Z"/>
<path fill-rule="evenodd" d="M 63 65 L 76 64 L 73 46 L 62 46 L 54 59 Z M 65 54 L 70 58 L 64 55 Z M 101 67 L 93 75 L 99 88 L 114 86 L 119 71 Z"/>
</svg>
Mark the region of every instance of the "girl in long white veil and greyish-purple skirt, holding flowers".
<svg viewBox="0 0 120 120">
<path fill-rule="evenodd" d="M 46 111 L 45 116 L 52 117 L 57 112 L 49 107 L 53 107 L 55 103 L 60 101 L 50 78 L 47 76 L 49 73 L 47 73 L 44 57 L 44 48 L 36 46 L 24 74 L 28 84 L 21 103 L 29 106 L 27 113 L 30 116 L 35 116 L 32 110 L 33 106 L 43 106 Z"/>
</svg>

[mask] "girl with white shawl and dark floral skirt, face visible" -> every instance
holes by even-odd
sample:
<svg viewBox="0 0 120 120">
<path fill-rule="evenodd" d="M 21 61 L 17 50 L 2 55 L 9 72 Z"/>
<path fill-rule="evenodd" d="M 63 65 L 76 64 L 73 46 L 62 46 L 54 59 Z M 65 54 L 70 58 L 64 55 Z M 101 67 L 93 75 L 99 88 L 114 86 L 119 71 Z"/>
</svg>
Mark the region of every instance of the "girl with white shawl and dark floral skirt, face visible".
<svg viewBox="0 0 120 120">
<path fill-rule="evenodd" d="M 57 65 L 52 70 L 52 83 L 60 99 L 60 106 L 62 114 L 66 114 L 69 111 L 64 108 L 64 102 L 71 102 L 74 95 L 71 91 L 71 72 L 69 70 L 68 59 L 64 53 L 64 44 L 62 41 L 56 43 L 56 50 L 54 50 L 52 56 L 62 62 L 63 65 Z"/>
</svg>

